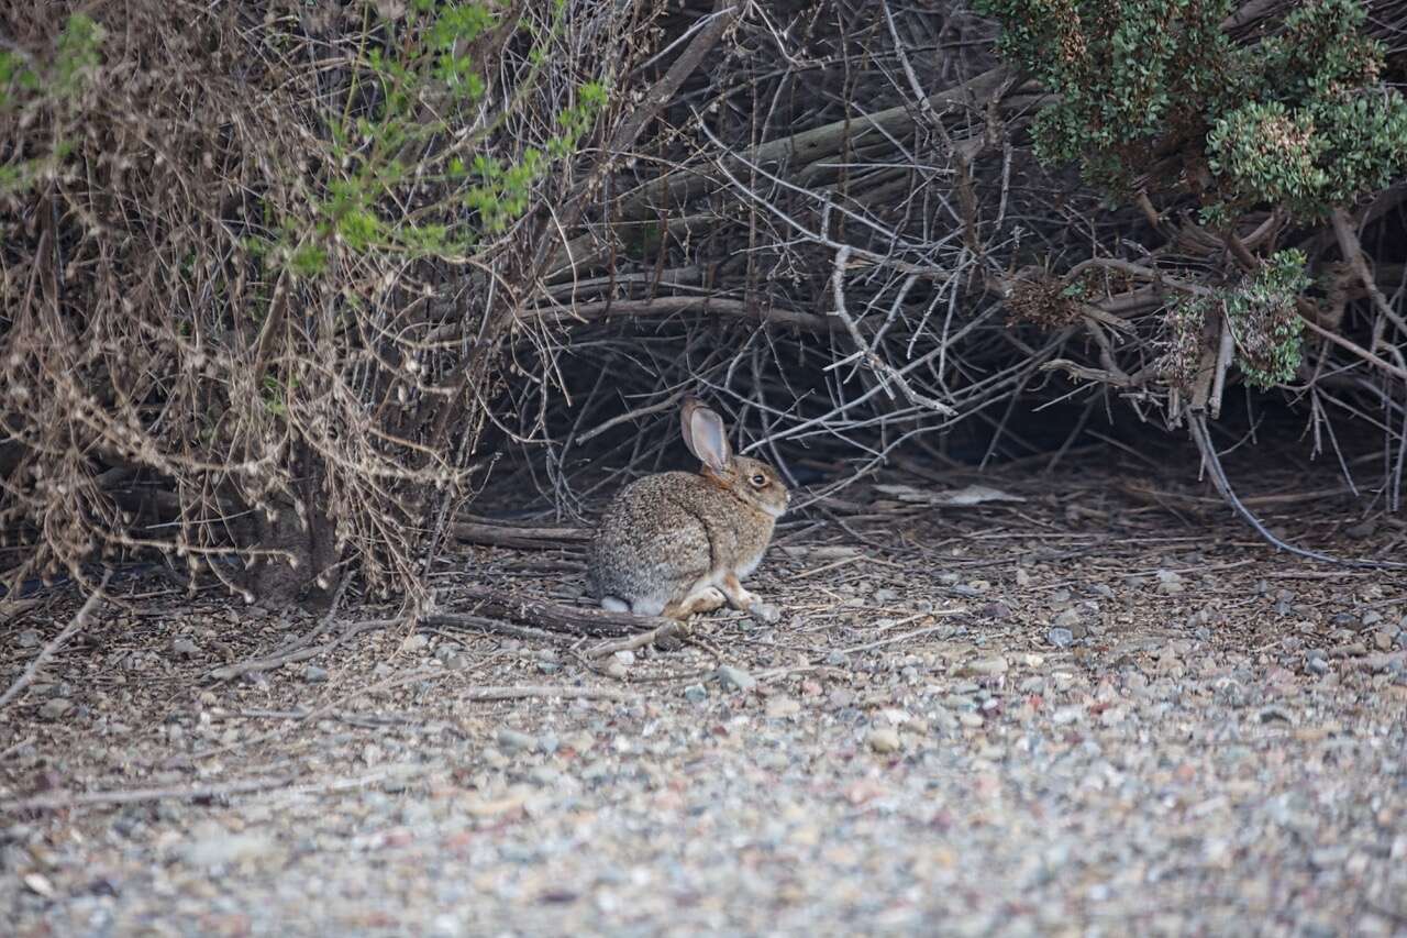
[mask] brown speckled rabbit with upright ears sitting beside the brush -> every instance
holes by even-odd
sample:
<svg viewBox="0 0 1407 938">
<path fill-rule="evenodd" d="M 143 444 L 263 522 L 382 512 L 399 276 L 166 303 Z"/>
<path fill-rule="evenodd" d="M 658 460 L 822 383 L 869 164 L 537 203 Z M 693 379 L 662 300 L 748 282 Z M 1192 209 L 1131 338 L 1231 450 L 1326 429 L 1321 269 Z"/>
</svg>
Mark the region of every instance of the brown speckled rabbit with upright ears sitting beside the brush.
<svg viewBox="0 0 1407 938">
<path fill-rule="evenodd" d="M 694 397 L 680 408 L 696 473 L 636 479 L 606 507 L 591 541 L 588 587 L 601 607 L 687 620 L 725 603 L 764 623 L 781 613 L 743 589 L 791 493 L 777 470 L 734 456 L 723 418 Z"/>
</svg>

